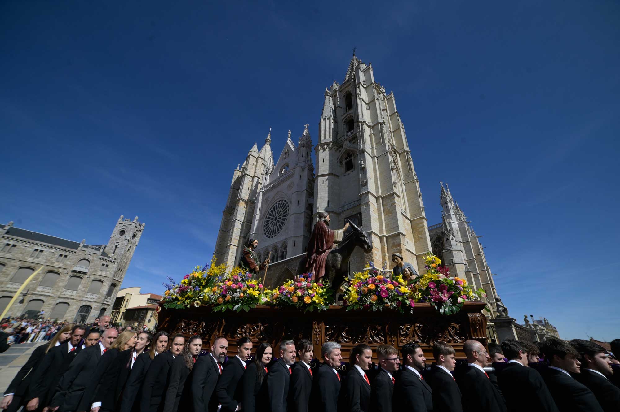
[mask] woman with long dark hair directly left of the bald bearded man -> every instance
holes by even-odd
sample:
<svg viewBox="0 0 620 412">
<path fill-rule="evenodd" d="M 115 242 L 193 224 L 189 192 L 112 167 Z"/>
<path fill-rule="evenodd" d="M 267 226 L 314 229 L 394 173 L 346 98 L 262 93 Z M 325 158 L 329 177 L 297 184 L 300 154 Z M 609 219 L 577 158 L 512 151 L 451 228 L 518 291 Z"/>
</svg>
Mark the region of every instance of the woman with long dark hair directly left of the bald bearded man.
<svg viewBox="0 0 620 412">
<path fill-rule="evenodd" d="M 170 366 L 170 382 L 166 390 L 164 398 L 163 412 L 177 412 L 177 410 L 192 410 L 192 385 L 187 382 L 188 376 L 192 372 L 193 365 L 198 359 L 200 350 L 202 349 L 202 338 L 200 335 L 193 335 L 183 348 L 182 356 L 177 356 Z M 187 383 L 187 385 L 186 385 Z M 187 390 L 184 394 L 184 388 Z"/>
</svg>

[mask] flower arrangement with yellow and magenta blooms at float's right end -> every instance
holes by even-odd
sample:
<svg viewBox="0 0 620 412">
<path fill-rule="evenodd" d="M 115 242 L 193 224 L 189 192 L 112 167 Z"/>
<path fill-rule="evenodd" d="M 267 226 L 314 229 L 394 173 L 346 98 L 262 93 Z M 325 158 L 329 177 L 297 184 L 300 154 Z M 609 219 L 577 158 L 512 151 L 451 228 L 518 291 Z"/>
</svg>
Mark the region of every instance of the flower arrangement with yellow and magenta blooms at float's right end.
<svg viewBox="0 0 620 412">
<path fill-rule="evenodd" d="M 429 253 L 424 257 L 426 273 L 412 281 L 416 302 L 428 302 L 442 315 L 453 315 L 461 310 L 466 301 L 486 297 L 484 289 L 474 290 L 467 281 L 451 277 L 449 269 L 441 265 L 441 260 Z M 489 308 L 485 307 L 488 312 Z"/>
</svg>

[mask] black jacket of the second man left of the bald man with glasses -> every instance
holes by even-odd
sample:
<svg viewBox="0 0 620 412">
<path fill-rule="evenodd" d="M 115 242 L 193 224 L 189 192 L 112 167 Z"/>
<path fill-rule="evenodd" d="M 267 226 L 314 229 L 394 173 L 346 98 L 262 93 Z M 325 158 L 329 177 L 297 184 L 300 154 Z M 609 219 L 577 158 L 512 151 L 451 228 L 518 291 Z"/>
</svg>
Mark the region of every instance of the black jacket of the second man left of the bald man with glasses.
<svg viewBox="0 0 620 412">
<path fill-rule="evenodd" d="M 396 374 L 394 395 L 392 395 L 392 411 L 429 411 L 433 410 L 433 391 L 430 386 L 411 371 L 403 367 Z"/>
</svg>

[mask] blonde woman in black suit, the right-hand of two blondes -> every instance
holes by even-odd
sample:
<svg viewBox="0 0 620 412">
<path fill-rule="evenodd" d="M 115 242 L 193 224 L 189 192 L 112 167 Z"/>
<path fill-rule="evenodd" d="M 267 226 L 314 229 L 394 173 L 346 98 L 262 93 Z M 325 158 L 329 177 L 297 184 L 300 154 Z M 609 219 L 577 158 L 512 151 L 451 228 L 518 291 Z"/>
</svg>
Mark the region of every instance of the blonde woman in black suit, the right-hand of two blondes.
<svg viewBox="0 0 620 412">
<path fill-rule="evenodd" d="M 93 385 L 84 392 L 92 399 L 91 410 L 117 411 L 120 395 L 131 371 L 131 355 L 138 340 L 135 330 L 125 330 L 101 356 L 92 376 Z"/>
</svg>

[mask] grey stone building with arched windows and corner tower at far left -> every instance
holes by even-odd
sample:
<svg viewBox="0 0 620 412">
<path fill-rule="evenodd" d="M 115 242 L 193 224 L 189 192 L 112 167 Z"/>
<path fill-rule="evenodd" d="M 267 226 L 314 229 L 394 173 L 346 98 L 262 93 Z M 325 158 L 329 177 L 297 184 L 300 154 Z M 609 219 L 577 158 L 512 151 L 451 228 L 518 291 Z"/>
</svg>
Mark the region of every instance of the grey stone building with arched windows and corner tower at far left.
<svg viewBox="0 0 620 412">
<path fill-rule="evenodd" d="M 88 245 L 16 228 L 13 222 L 0 226 L 0 312 L 38 270 L 6 316 L 44 311 L 45 317 L 88 323 L 110 314 L 143 230 L 138 217 L 121 216 L 107 244 Z"/>
</svg>

